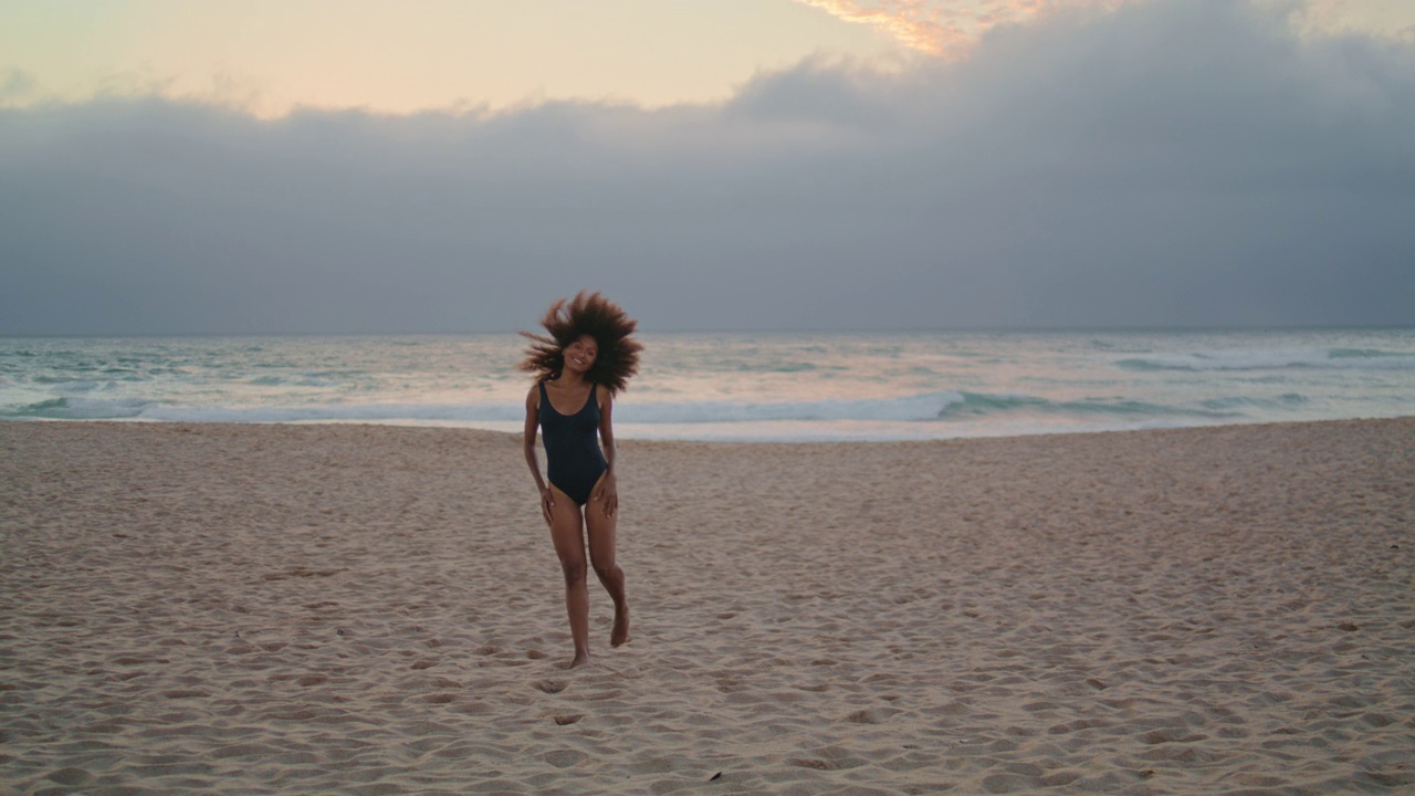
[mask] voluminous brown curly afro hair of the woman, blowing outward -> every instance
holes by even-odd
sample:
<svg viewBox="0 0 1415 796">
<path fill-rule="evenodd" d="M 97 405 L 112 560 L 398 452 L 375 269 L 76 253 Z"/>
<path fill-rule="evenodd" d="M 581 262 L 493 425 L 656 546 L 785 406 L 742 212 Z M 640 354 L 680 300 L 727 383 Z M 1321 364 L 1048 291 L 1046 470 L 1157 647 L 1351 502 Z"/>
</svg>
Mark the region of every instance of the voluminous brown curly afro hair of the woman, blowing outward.
<svg viewBox="0 0 1415 796">
<path fill-rule="evenodd" d="M 558 299 L 541 319 L 541 326 L 550 333 L 549 337 L 521 333 L 533 343 L 518 365 L 522 371 L 533 373 L 536 381 L 559 378 L 565 370 L 565 347 L 582 334 L 593 337 L 600 347 L 594 367 L 584 374 L 587 380 L 608 387 L 610 392 L 618 392 L 638 373 L 638 353 L 644 346 L 630 337 L 638 322 L 597 292 L 580 290 L 573 299 Z"/>
</svg>

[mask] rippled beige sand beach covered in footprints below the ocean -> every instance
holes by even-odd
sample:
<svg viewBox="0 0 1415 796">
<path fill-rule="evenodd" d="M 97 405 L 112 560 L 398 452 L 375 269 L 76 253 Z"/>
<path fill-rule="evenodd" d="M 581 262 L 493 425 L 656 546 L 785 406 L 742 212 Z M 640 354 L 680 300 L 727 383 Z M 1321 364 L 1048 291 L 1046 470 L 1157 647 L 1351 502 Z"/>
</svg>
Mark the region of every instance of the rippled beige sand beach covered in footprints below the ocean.
<svg viewBox="0 0 1415 796">
<path fill-rule="evenodd" d="M 0 793 L 1411 793 L 1415 419 L 621 443 L 0 423 Z"/>
</svg>

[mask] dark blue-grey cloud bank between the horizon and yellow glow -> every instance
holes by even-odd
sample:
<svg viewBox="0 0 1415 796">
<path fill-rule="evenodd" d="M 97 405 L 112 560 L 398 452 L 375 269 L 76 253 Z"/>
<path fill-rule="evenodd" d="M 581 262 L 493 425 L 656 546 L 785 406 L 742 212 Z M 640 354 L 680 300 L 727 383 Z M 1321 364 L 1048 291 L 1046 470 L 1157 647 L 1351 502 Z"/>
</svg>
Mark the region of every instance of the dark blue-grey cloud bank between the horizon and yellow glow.
<svg viewBox="0 0 1415 796">
<path fill-rule="evenodd" d="M 1415 47 L 1235 0 L 722 106 L 0 110 L 0 334 L 1415 324 Z"/>
</svg>

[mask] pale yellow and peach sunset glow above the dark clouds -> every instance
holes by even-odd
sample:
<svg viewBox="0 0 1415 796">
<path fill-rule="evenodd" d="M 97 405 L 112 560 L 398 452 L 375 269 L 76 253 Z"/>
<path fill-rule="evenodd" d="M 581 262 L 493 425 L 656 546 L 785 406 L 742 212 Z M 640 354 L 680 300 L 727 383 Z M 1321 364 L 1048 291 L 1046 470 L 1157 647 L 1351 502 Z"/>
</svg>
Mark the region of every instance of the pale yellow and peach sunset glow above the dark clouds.
<svg viewBox="0 0 1415 796">
<path fill-rule="evenodd" d="M 1039 16 L 1146 0 L 44 0 L 0 7 L 0 106 L 160 95 L 296 108 L 712 103 L 804 58 L 964 58 Z M 1415 4 L 1315 0 L 1303 24 L 1411 35 Z"/>
</svg>

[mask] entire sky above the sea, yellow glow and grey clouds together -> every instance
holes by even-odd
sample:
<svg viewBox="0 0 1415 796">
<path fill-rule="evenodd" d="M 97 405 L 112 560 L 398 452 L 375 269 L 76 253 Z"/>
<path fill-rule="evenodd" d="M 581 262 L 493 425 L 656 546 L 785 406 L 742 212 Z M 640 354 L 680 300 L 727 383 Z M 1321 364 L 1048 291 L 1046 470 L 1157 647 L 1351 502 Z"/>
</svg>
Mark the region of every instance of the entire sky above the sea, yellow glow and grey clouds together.
<svg viewBox="0 0 1415 796">
<path fill-rule="evenodd" d="M 1408 0 L 0 0 L 0 334 L 1415 326 Z"/>
</svg>

